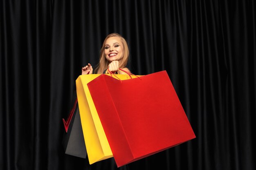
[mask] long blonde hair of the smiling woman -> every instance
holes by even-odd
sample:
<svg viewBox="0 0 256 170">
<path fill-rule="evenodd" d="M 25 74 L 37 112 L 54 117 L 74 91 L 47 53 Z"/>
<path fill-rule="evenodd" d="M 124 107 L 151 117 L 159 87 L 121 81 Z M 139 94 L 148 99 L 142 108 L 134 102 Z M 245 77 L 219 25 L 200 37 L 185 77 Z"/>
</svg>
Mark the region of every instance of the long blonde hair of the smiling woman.
<svg viewBox="0 0 256 170">
<path fill-rule="evenodd" d="M 127 65 L 127 63 L 128 63 L 129 48 L 128 48 L 128 44 L 127 44 L 126 40 L 120 34 L 118 34 L 118 33 L 109 34 L 105 38 L 105 40 L 104 40 L 104 42 L 102 44 L 102 47 L 101 47 L 99 64 L 95 68 L 95 73 L 97 73 L 97 74 L 102 74 L 103 71 L 105 71 L 108 68 L 109 62 L 108 62 L 108 60 L 105 57 L 104 51 L 105 51 L 106 41 L 110 37 L 119 37 L 121 39 L 121 42 L 123 43 L 123 46 L 124 46 L 124 57 L 119 61 L 119 68 L 124 68 Z"/>
</svg>

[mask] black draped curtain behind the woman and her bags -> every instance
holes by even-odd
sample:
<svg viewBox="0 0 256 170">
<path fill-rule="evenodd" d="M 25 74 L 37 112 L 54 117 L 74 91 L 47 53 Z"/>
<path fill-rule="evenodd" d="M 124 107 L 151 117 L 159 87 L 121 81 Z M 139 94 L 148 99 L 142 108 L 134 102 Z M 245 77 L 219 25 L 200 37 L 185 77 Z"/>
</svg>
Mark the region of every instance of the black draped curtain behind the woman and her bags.
<svg viewBox="0 0 256 170">
<path fill-rule="evenodd" d="M 129 170 L 255 170 L 254 0 L 0 0 L 0 169 L 110 170 L 61 144 L 81 67 L 109 33 L 137 75 L 166 70 L 197 136 Z"/>
</svg>

